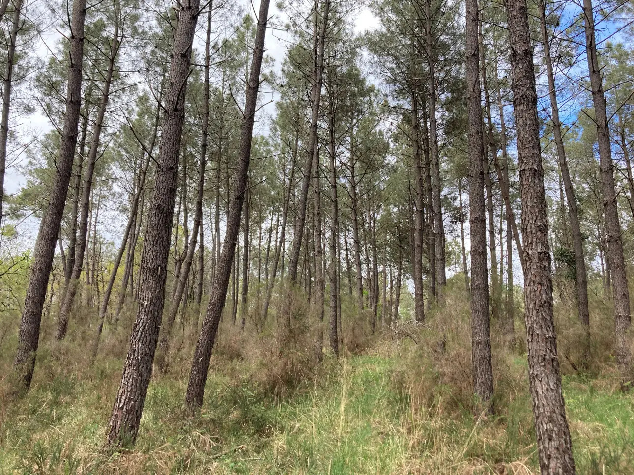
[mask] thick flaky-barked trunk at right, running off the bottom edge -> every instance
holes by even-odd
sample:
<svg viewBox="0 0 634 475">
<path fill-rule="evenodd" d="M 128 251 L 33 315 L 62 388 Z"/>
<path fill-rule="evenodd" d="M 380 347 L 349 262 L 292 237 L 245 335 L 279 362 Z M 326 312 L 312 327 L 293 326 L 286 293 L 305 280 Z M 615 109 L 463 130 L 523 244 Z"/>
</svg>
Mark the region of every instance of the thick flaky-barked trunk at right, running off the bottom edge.
<svg viewBox="0 0 634 475">
<path fill-rule="evenodd" d="M 529 388 L 542 474 L 574 474 L 553 323 L 547 205 L 526 0 L 505 0 L 522 195 Z"/>
</svg>

